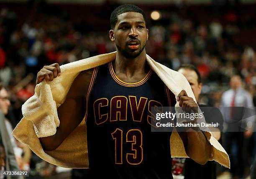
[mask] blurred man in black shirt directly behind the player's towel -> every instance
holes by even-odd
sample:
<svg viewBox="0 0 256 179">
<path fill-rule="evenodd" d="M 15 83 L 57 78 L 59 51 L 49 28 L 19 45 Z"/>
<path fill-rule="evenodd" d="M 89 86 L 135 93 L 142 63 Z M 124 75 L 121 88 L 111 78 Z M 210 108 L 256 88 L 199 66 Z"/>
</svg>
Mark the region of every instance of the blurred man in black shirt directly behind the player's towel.
<svg viewBox="0 0 256 179">
<path fill-rule="evenodd" d="M 183 64 L 177 69 L 177 72 L 186 77 L 189 82 L 191 89 L 195 95 L 196 100 L 199 100 L 199 96 L 202 90 L 202 80 L 198 69 L 191 64 Z M 212 135 L 219 141 L 220 140 L 220 130 L 222 130 L 223 117 L 220 111 L 215 107 L 206 107 L 205 105 L 200 105 L 200 109 L 204 113 L 205 121 L 207 123 L 219 122 L 218 128 L 211 127 Z M 185 179 L 216 179 L 216 164 L 213 161 L 208 161 L 205 165 L 199 165 L 192 161 L 191 159 L 185 160 Z"/>
</svg>

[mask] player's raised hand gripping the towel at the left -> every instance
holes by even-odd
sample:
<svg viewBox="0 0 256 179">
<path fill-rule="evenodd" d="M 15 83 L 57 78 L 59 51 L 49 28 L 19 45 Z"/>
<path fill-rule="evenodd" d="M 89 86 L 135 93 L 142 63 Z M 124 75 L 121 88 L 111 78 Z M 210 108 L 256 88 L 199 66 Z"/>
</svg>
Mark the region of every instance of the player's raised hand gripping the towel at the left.
<svg viewBox="0 0 256 179">
<path fill-rule="evenodd" d="M 38 73 L 36 77 L 36 84 L 39 84 L 44 79 L 46 82 L 52 81 L 54 78 L 60 76 L 60 67 L 58 63 L 51 64 L 49 66 L 44 66 Z"/>
</svg>

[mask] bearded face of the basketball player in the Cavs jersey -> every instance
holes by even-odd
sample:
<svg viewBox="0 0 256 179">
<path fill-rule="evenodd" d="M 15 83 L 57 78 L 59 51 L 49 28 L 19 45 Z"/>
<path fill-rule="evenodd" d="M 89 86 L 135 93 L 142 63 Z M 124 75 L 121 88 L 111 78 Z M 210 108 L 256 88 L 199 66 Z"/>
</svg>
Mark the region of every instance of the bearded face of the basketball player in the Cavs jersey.
<svg viewBox="0 0 256 179">
<path fill-rule="evenodd" d="M 148 29 L 141 13 L 128 12 L 118 15 L 115 29 L 109 35 L 125 57 L 136 58 L 145 49 Z"/>
</svg>

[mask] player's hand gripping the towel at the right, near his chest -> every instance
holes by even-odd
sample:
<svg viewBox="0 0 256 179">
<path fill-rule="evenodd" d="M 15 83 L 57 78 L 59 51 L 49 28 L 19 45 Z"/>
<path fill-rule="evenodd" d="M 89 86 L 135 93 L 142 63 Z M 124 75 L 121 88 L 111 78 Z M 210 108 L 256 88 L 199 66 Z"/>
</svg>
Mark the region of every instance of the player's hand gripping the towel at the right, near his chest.
<svg viewBox="0 0 256 179">
<path fill-rule="evenodd" d="M 177 101 L 179 102 L 179 106 L 182 107 L 182 110 L 184 110 L 187 113 L 191 113 L 191 110 L 194 111 L 194 113 L 197 113 L 197 103 L 193 100 L 192 97 L 188 97 L 187 92 L 185 90 L 182 90 L 179 95 L 177 96 Z"/>
</svg>

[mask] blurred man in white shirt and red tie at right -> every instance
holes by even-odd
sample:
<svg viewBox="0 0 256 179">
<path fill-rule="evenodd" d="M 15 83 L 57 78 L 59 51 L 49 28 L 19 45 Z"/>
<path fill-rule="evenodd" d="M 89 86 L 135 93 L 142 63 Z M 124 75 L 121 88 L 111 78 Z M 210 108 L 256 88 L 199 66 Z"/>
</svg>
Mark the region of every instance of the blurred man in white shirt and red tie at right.
<svg viewBox="0 0 256 179">
<path fill-rule="evenodd" d="M 224 147 L 231 155 L 232 143 L 236 141 L 238 149 L 236 156 L 230 157 L 230 163 L 233 166 L 230 172 L 233 177 L 243 178 L 246 164 L 246 139 L 252 135 L 255 113 L 251 110 L 251 114 L 248 115 L 247 109 L 254 109 L 253 100 L 249 92 L 242 88 L 242 79 L 239 75 L 230 78 L 230 89 L 223 93 L 221 106 L 225 121 Z M 235 158 L 238 162 L 234 161 Z"/>
</svg>

